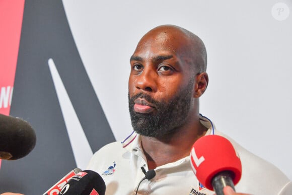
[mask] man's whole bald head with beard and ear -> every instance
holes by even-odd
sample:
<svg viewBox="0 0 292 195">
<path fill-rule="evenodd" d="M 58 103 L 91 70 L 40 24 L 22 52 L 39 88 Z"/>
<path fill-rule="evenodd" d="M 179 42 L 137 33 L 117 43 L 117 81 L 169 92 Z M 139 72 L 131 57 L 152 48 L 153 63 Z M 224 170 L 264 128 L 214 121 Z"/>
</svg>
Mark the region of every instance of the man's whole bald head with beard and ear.
<svg viewBox="0 0 292 195">
<path fill-rule="evenodd" d="M 158 26 L 141 38 L 130 66 L 129 111 L 136 132 L 165 139 L 199 124 L 208 75 L 205 46 L 196 35 Z"/>
</svg>

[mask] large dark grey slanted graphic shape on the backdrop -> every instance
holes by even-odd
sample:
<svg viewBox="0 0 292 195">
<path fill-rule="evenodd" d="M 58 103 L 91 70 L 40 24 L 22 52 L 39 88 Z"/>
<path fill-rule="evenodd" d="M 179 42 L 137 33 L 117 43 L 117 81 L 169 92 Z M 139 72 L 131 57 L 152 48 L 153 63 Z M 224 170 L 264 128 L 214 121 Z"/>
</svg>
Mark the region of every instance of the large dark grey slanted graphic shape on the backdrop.
<svg viewBox="0 0 292 195">
<path fill-rule="evenodd" d="M 71 35 L 62 2 L 26 0 L 10 114 L 31 123 L 37 144 L 25 158 L 2 162 L 0 193 L 42 194 L 76 167 L 49 58 L 56 64 L 92 151 L 115 140 Z"/>
</svg>

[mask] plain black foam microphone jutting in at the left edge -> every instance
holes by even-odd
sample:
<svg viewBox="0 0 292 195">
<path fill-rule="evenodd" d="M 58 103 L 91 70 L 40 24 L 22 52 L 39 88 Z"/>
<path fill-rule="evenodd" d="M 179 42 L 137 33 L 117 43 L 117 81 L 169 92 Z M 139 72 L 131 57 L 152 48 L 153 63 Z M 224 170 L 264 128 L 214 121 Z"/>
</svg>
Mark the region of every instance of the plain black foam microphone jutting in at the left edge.
<svg viewBox="0 0 292 195">
<path fill-rule="evenodd" d="M 35 147 L 36 135 L 25 120 L 0 114 L 0 159 L 16 160 Z"/>
</svg>

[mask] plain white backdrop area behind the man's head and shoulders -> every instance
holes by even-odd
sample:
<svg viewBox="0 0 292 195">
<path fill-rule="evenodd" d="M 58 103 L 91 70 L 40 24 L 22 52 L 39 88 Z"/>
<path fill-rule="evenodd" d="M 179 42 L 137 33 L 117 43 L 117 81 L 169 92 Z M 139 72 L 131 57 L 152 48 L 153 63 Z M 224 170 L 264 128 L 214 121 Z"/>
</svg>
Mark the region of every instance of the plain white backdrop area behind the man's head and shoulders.
<svg viewBox="0 0 292 195">
<path fill-rule="evenodd" d="M 63 0 L 117 140 L 132 131 L 129 57 L 144 33 L 174 24 L 197 34 L 207 48 L 209 86 L 200 112 L 292 179 L 292 1 L 281 2 Z"/>
</svg>

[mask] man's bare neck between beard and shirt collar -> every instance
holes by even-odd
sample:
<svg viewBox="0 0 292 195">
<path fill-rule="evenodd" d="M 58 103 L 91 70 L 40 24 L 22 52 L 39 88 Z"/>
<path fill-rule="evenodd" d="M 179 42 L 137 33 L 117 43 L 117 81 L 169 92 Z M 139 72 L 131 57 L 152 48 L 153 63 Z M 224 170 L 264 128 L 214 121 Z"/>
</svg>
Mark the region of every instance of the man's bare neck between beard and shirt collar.
<svg viewBox="0 0 292 195">
<path fill-rule="evenodd" d="M 158 166 L 189 156 L 194 142 L 204 136 L 206 131 L 207 128 L 197 120 L 163 138 L 141 136 L 141 145 L 149 169 L 155 169 Z"/>
</svg>

